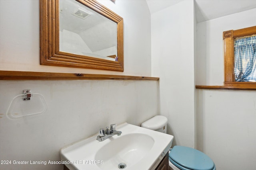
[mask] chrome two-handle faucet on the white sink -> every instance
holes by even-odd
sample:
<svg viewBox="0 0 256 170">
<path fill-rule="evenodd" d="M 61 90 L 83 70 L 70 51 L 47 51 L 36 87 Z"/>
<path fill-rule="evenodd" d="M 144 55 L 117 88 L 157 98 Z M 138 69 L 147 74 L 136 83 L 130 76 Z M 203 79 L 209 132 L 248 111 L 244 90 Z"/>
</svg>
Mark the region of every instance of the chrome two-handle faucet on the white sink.
<svg viewBox="0 0 256 170">
<path fill-rule="evenodd" d="M 122 133 L 121 131 L 116 131 L 116 124 L 111 124 L 110 129 L 109 127 L 106 127 L 106 131 L 104 130 L 104 128 L 100 128 L 99 135 L 97 136 L 97 140 L 102 142 L 114 135 L 120 136 L 121 133 Z"/>
</svg>

